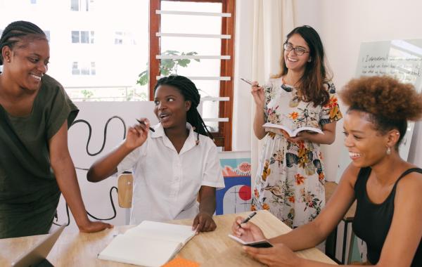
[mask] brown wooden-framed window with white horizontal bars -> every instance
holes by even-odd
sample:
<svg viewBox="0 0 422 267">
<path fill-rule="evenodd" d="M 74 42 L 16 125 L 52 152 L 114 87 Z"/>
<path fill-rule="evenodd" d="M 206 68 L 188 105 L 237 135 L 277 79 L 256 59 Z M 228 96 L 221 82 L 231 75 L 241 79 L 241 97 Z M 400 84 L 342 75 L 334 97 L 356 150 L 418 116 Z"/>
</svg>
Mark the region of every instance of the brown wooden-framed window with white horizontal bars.
<svg viewBox="0 0 422 267">
<path fill-rule="evenodd" d="M 177 74 L 190 77 L 205 96 L 203 119 L 215 143 L 231 150 L 235 0 L 150 1 L 150 100 L 168 60 L 188 59 Z M 171 74 L 171 73 L 170 73 Z"/>
</svg>

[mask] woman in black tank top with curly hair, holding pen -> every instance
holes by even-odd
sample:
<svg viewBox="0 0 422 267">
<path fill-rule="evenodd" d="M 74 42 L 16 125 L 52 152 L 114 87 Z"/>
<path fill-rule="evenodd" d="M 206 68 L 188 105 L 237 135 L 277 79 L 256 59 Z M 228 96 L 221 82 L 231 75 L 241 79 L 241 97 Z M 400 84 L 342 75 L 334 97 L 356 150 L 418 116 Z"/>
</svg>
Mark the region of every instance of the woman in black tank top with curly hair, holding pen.
<svg viewBox="0 0 422 267">
<path fill-rule="evenodd" d="M 338 225 L 354 200 L 353 230 L 366 242 L 372 265 L 422 266 L 422 169 L 399 156 L 407 121 L 422 116 L 422 94 L 390 77 L 354 79 L 340 91 L 349 106 L 345 146 L 352 163 L 318 217 L 286 235 L 269 240 L 274 247 L 245 251 L 269 266 L 329 266 L 300 259 L 292 251 L 314 247 Z M 266 238 L 253 223 L 236 218 L 234 235 Z M 239 227 L 241 226 L 241 227 Z"/>
</svg>

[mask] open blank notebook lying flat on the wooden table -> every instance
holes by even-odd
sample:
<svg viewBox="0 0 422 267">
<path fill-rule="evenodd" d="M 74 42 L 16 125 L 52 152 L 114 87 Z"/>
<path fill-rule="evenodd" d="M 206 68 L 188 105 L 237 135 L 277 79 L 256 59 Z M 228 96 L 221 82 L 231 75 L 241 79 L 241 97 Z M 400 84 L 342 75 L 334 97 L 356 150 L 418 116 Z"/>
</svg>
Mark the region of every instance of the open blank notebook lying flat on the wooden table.
<svg viewBox="0 0 422 267">
<path fill-rule="evenodd" d="M 117 235 L 98 259 L 141 266 L 162 266 L 195 235 L 192 226 L 143 221 Z"/>
</svg>

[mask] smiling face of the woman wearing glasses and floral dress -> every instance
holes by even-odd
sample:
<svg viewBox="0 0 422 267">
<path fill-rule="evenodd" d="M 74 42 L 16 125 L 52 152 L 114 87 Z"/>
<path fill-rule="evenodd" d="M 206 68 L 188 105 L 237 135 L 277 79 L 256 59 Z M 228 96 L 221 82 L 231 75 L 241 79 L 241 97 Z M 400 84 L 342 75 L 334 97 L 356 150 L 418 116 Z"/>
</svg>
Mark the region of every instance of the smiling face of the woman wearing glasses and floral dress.
<svg viewBox="0 0 422 267">
<path fill-rule="evenodd" d="M 293 34 L 286 42 L 293 48 L 301 48 L 304 51 L 309 52 L 309 46 L 300 34 Z M 302 56 L 296 54 L 295 49 L 291 51 L 284 51 L 284 62 L 288 70 L 294 70 L 296 72 L 302 72 L 309 60 L 309 53 L 304 53 Z"/>
</svg>

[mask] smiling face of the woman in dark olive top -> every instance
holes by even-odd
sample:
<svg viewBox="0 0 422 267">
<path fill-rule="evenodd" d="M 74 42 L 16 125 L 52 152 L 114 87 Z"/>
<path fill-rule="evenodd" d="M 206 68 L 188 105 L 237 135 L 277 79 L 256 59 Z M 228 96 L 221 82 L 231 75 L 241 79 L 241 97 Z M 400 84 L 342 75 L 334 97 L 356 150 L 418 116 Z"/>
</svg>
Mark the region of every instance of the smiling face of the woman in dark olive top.
<svg viewBox="0 0 422 267">
<path fill-rule="evenodd" d="M 10 74 L 13 82 L 20 88 L 37 90 L 41 86 L 41 77 L 47 72 L 50 48 L 44 38 L 24 38 L 13 48 L 3 48 L 4 72 Z"/>
</svg>

